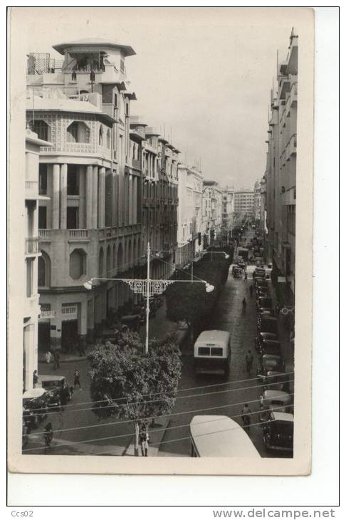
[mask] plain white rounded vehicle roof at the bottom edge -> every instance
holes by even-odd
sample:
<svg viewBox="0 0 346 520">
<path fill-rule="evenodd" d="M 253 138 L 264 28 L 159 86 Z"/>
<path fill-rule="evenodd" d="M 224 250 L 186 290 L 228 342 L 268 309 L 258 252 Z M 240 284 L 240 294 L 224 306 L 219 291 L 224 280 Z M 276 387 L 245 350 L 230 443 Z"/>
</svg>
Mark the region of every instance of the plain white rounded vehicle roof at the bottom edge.
<svg viewBox="0 0 346 520">
<path fill-rule="evenodd" d="M 192 457 L 253 457 L 256 447 L 238 422 L 226 415 L 195 415 L 190 422 Z"/>
</svg>

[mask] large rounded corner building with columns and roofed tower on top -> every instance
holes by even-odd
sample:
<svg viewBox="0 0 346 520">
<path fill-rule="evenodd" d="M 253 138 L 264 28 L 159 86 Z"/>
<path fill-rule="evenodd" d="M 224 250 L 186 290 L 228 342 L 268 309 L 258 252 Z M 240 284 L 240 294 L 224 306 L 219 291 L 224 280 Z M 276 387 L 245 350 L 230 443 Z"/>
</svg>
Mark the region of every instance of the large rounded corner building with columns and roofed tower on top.
<svg viewBox="0 0 346 520">
<path fill-rule="evenodd" d="M 110 311 L 134 298 L 119 281 L 140 268 L 142 128 L 130 125 L 125 58 L 130 46 L 100 40 L 54 46 L 61 68 L 28 59 L 27 125 L 41 147 L 38 227 L 40 343 L 67 346 L 93 336 Z"/>
</svg>

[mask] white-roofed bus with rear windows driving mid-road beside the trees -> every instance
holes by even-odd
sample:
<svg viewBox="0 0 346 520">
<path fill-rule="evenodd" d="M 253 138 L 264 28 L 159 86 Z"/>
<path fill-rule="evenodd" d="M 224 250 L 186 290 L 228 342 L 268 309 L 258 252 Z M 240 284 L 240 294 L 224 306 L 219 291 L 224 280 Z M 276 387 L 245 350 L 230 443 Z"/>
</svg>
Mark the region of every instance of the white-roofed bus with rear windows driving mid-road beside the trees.
<svg viewBox="0 0 346 520">
<path fill-rule="evenodd" d="M 197 374 L 229 375 L 231 334 L 226 331 L 203 331 L 194 343 L 194 370 Z"/>
</svg>

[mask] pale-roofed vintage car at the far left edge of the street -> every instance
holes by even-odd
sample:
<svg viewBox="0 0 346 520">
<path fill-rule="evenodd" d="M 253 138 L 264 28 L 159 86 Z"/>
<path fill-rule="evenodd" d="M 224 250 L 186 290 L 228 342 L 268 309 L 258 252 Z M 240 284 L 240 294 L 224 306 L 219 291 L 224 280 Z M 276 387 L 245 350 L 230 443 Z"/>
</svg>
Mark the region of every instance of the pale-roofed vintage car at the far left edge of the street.
<svg viewBox="0 0 346 520">
<path fill-rule="evenodd" d="M 44 388 L 33 388 L 23 393 L 23 425 L 28 433 L 46 419 L 49 397 Z"/>
</svg>

